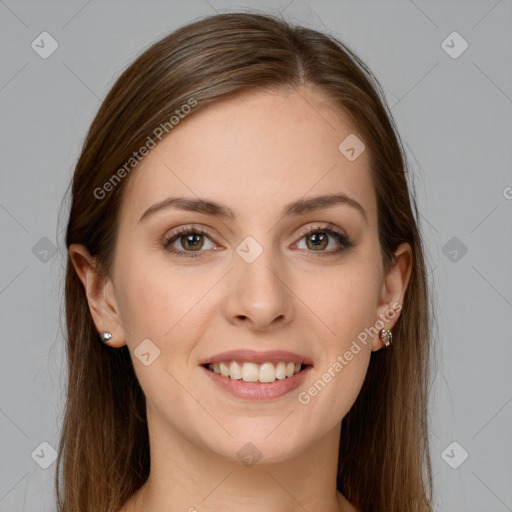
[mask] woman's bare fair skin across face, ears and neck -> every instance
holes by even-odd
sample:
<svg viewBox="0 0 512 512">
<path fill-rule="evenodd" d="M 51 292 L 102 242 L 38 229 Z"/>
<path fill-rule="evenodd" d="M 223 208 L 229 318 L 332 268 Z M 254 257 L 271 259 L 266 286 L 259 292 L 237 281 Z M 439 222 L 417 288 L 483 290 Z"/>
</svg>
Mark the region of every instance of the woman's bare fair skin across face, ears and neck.
<svg viewBox="0 0 512 512">
<path fill-rule="evenodd" d="M 87 249 L 71 245 L 98 332 L 112 333 L 111 347 L 128 345 L 147 398 L 151 474 L 122 512 L 357 510 L 336 490 L 339 433 L 383 342 L 369 337 L 308 404 L 297 400 L 402 303 L 410 277 L 408 244 L 383 272 L 368 152 L 349 161 L 338 150 L 351 133 L 349 118 L 314 89 L 238 94 L 183 120 L 132 171 L 112 275 L 99 275 Z M 358 201 L 367 220 L 348 204 L 282 216 L 292 201 L 334 192 Z M 167 209 L 138 222 L 171 195 L 214 200 L 236 218 Z M 328 246 L 308 246 L 300 229 L 327 223 L 354 247 L 322 256 L 340 246 L 332 236 Z M 169 253 L 165 235 L 190 224 L 208 231 L 199 256 Z M 252 263 L 236 252 L 247 236 L 263 248 Z M 173 247 L 185 251 L 186 241 Z M 160 350 L 148 366 L 133 353 L 145 338 Z M 284 397 L 235 398 L 199 364 L 238 348 L 298 352 L 313 368 Z M 248 442 L 262 454 L 252 467 L 237 457 Z"/>
</svg>

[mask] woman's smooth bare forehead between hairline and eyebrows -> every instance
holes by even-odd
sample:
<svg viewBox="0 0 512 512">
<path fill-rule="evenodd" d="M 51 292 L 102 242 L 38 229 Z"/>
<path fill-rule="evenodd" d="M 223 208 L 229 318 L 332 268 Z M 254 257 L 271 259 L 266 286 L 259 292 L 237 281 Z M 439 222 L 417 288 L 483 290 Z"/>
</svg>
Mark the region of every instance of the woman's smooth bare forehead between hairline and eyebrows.
<svg viewBox="0 0 512 512">
<path fill-rule="evenodd" d="M 137 222 L 153 203 L 181 195 L 215 200 L 249 219 L 303 197 L 344 193 L 371 219 L 368 152 L 351 161 L 339 149 L 354 135 L 349 117 L 310 88 L 236 94 L 181 120 L 144 157 L 121 216 Z"/>
</svg>

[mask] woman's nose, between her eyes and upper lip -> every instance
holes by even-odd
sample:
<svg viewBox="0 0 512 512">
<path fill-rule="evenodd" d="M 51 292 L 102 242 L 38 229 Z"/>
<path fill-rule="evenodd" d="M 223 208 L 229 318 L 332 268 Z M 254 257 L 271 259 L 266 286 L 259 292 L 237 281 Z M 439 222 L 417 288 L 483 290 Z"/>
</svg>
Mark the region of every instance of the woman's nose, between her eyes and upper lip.
<svg viewBox="0 0 512 512">
<path fill-rule="evenodd" d="M 229 273 L 225 301 L 225 314 L 230 323 L 262 331 L 290 322 L 291 283 L 272 250 L 263 250 L 252 263 L 237 254 L 234 267 Z"/>
</svg>

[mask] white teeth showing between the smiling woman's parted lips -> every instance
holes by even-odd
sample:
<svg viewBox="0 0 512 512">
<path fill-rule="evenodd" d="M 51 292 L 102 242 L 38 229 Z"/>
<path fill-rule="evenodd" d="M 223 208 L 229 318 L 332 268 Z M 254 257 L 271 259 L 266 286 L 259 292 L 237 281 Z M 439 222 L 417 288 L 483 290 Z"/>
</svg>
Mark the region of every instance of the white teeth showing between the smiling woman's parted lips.
<svg viewBox="0 0 512 512">
<path fill-rule="evenodd" d="M 226 361 L 221 363 L 207 363 L 202 365 L 207 370 L 232 380 L 244 382 L 271 383 L 276 380 L 284 380 L 311 365 L 280 361 L 274 363 L 256 364 L 251 362 Z"/>
</svg>

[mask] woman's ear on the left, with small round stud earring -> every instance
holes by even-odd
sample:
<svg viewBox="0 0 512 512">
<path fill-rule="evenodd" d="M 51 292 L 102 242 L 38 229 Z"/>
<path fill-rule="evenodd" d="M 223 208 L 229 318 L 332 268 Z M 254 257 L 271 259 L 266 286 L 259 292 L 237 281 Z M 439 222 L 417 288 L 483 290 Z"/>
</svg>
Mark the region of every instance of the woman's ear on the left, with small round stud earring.
<svg viewBox="0 0 512 512">
<path fill-rule="evenodd" d="M 96 329 L 98 332 L 112 333 L 112 338 L 106 342 L 109 346 L 118 348 L 126 345 L 125 330 L 121 325 L 112 281 L 97 270 L 95 259 L 84 245 L 70 244 L 69 256 L 84 285 Z"/>
</svg>

